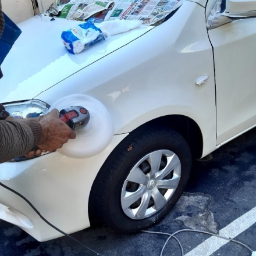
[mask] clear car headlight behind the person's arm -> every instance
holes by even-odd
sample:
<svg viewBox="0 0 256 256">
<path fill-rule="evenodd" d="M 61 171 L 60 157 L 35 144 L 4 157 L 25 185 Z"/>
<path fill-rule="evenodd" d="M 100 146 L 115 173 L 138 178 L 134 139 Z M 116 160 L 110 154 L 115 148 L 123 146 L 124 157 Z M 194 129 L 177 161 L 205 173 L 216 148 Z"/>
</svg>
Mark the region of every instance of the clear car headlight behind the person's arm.
<svg viewBox="0 0 256 256">
<path fill-rule="evenodd" d="M 3 104 L 6 111 L 10 113 L 13 118 L 36 118 L 40 115 L 45 115 L 48 112 L 49 105 L 45 102 L 37 99 L 31 99 L 30 101 L 12 102 Z M 47 153 L 45 153 L 47 154 Z M 26 158 L 24 156 L 12 159 L 9 162 L 26 161 L 33 158 Z"/>
</svg>

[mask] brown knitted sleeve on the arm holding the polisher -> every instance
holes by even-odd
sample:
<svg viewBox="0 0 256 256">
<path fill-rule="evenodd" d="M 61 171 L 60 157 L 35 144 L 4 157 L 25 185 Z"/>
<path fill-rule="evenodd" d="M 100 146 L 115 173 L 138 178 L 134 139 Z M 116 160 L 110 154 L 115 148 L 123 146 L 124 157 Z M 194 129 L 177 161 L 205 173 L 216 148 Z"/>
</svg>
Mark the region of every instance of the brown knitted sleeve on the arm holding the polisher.
<svg viewBox="0 0 256 256">
<path fill-rule="evenodd" d="M 0 121 L 0 163 L 27 154 L 41 135 L 38 122 Z"/>
</svg>

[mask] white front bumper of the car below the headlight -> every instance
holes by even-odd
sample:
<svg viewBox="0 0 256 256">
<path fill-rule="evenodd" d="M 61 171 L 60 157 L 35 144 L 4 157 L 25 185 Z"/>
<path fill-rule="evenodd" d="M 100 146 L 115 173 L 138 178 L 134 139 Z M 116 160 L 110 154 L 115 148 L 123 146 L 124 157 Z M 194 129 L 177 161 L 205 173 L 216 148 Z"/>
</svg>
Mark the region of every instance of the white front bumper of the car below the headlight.
<svg viewBox="0 0 256 256">
<path fill-rule="evenodd" d="M 0 182 L 21 194 L 52 225 L 65 233 L 90 226 L 88 199 L 95 176 L 127 134 L 90 158 L 69 158 L 59 152 L 0 165 Z M 86 145 L 85 145 L 86 147 Z M 63 236 L 44 222 L 22 197 L 0 186 L 0 218 L 21 227 L 38 241 Z"/>
</svg>

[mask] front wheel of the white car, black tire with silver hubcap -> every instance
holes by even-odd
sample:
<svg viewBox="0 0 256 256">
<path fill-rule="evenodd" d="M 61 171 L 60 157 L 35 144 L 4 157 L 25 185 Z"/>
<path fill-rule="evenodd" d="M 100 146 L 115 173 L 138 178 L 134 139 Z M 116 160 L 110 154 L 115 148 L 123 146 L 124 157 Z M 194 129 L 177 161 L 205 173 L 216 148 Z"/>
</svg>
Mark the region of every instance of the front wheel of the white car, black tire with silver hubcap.
<svg viewBox="0 0 256 256">
<path fill-rule="evenodd" d="M 159 168 L 152 168 L 159 162 L 154 161 L 158 158 L 161 158 Z M 170 168 L 172 161 L 176 163 L 174 168 Z M 156 173 L 152 175 L 154 169 Z M 143 126 L 134 130 L 99 170 L 90 194 L 90 221 L 100 219 L 122 233 L 138 232 L 157 223 L 179 200 L 189 180 L 190 169 L 190 148 L 179 133 L 167 127 Z M 169 189 L 163 185 L 166 182 Z M 175 183 L 173 189 L 171 182 Z M 145 193 L 141 192 L 143 196 L 130 204 L 126 195 L 135 196 L 139 190 Z M 149 195 L 150 200 L 147 200 Z"/>
</svg>

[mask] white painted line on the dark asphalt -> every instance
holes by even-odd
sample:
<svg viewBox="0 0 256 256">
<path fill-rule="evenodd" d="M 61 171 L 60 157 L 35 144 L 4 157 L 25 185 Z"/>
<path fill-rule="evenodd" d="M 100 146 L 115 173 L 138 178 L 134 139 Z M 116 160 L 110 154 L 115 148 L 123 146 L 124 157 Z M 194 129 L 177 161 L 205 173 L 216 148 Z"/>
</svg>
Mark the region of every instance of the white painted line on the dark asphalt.
<svg viewBox="0 0 256 256">
<path fill-rule="evenodd" d="M 244 230 L 248 229 L 248 227 L 254 225 L 255 222 L 256 207 L 246 212 L 246 214 L 240 216 L 238 219 L 235 219 L 226 227 L 223 227 L 223 229 L 219 230 L 219 235 L 234 239 L 234 237 L 244 232 Z M 209 256 L 228 242 L 229 241 L 226 239 L 211 236 L 195 247 L 192 251 L 185 254 L 185 256 Z"/>
</svg>

